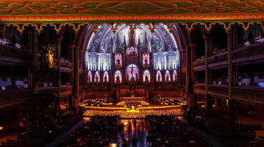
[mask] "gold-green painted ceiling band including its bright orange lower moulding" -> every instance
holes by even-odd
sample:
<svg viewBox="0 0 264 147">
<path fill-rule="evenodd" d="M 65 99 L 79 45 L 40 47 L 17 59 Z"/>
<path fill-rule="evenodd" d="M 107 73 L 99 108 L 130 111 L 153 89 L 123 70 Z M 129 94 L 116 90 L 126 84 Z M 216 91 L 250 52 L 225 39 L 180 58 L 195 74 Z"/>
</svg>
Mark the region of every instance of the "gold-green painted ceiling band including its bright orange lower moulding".
<svg viewBox="0 0 264 147">
<path fill-rule="evenodd" d="M 200 19 L 217 19 L 220 16 L 221 19 L 263 19 L 264 18 L 264 1 L 263 0 L 173 0 L 173 1 L 121 1 L 121 0 L 88 0 L 88 1 L 77 1 L 77 0 L 59 0 L 59 1 L 35 1 L 35 0 L 0 0 L 0 21 L 21 21 L 26 20 L 25 17 L 63 17 L 70 16 L 76 19 L 76 17 L 83 16 L 98 16 L 104 17 L 106 20 L 113 18 L 106 18 L 107 16 L 124 16 L 131 18 L 131 15 L 135 15 L 136 19 L 139 16 L 145 17 L 153 16 L 156 19 L 168 19 L 164 17 L 167 15 L 181 16 L 185 15 L 201 15 L 205 14 Z M 241 17 L 244 14 L 244 17 Z M 157 17 L 157 16 L 162 17 Z M 236 16 L 235 16 L 236 15 Z M 247 15 L 247 17 L 245 17 Z M 214 17 L 216 16 L 216 17 Z M 258 16 L 258 17 L 254 17 Z M 172 19 L 173 17 L 169 17 Z M 193 17 L 191 17 L 193 18 Z M 194 17 L 196 18 L 196 17 Z M 23 20 L 22 20 L 23 19 Z M 31 19 L 27 19 L 30 21 Z M 41 19 L 41 18 L 39 18 Z M 36 19 L 36 20 L 39 20 Z M 75 20 L 74 19 L 74 20 Z M 90 20 L 91 18 L 89 18 Z M 114 19 L 118 19 L 115 17 Z M 133 18 L 131 18 L 133 19 Z M 142 19 L 142 18 L 141 18 Z M 151 19 L 151 18 L 147 18 Z M 178 19 L 174 17 L 174 19 Z M 184 19 L 182 17 L 182 19 Z M 31 21 L 32 21 L 31 20 Z M 56 19 L 60 20 L 60 19 Z M 65 18 L 62 20 L 66 20 Z M 68 19 L 67 19 L 68 20 Z M 76 19 L 85 20 L 85 19 Z"/>
</svg>

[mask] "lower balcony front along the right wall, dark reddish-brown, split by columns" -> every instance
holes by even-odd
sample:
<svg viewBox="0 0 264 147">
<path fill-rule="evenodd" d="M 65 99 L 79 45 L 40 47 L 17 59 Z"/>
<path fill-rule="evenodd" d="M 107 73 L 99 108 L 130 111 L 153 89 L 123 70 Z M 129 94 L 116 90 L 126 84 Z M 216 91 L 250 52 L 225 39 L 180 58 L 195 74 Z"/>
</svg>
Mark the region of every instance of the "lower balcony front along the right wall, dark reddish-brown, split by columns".
<svg viewBox="0 0 264 147">
<path fill-rule="evenodd" d="M 193 84 L 194 93 L 205 95 L 205 84 Z M 212 97 L 228 98 L 227 85 L 208 85 L 208 94 Z M 232 88 L 232 98 L 238 101 L 247 101 L 251 104 L 264 104 L 264 88 L 241 86 Z"/>
</svg>

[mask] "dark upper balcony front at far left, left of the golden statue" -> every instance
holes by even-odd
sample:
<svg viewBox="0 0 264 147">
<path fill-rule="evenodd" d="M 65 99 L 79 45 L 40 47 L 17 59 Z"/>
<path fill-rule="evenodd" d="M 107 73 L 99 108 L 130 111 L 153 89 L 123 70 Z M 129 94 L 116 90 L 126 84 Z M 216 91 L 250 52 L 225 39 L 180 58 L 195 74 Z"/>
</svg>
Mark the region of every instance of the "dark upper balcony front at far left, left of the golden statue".
<svg viewBox="0 0 264 147">
<path fill-rule="evenodd" d="M 28 66 L 33 56 L 28 50 L 0 44 L 0 64 L 5 66 Z"/>
</svg>

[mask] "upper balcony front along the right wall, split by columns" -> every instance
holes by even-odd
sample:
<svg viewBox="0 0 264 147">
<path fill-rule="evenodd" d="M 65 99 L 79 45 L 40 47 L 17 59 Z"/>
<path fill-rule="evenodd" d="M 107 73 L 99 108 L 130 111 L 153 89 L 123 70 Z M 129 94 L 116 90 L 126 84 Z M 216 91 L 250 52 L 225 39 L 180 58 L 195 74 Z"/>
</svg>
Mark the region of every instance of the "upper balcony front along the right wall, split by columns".
<svg viewBox="0 0 264 147">
<path fill-rule="evenodd" d="M 207 57 L 209 69 L 227 68 L 227 52 L 220 52 L 218 55 Z M 243 66 L 255 63 L 264 63 L 264 43 L 254 43 L 250 46 L 243 46 L 232 51 L 232 64 Z M 205 59 L 196 60 L 193 63 L 194 71 L 205 70 Z"/>
</svg>

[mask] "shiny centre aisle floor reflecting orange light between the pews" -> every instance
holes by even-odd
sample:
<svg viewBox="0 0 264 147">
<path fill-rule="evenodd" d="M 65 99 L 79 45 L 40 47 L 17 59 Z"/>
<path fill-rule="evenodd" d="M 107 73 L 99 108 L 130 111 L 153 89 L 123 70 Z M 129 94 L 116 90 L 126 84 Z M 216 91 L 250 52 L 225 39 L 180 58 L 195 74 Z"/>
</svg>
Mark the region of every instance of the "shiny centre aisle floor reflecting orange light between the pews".
<svg viewBox="0 0 264 147">
<path fill-rule="evenodd" d="M 147 146 L 148 129 L 144 119 L 120 119 L 119 123 L 124 124 L 124 131 L 118 135 L 118 147 L 123 147 L 122 144 L 128 147 Z"/>
</svg>

